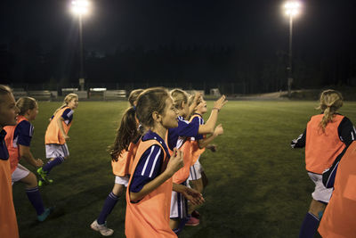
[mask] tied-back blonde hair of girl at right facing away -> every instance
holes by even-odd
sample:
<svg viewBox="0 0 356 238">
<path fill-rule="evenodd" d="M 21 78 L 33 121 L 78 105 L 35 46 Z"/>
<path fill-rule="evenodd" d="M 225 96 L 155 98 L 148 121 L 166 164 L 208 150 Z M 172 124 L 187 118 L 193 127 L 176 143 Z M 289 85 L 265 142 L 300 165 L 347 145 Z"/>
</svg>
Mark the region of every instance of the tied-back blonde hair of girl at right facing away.
<svg viewBox="0 0 356 238">
<path fill-rule="evenodd" d="M 328 123 L 333 120 L 336 111 L 343 106 L 343 95 L 336 90 L 328 89 L 320 94 L 320 109 L 324 113 L 324 117 L 320 121 L 320 127 L 325 130 Z"/>
</svg>

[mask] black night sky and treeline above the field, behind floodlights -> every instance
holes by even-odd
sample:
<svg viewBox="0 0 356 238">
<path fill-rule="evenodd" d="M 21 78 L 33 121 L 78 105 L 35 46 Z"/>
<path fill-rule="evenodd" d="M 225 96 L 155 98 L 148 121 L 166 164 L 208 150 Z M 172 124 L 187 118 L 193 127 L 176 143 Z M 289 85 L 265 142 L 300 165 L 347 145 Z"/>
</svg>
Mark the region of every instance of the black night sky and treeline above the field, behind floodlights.
<svg viewBox="0 0 356 238">
<path fill-rule="evenodd" d="M 181 86 L 225 94 L 286 90 L 282 1 L 96 0 L 84 19 L 85 88 Z M 356 2 L 302 1 L 293 87 L 356 84 Z M 77 87 L 78 21 L 66 0 L 0 4 L 0 81 Z"/>
</svg>

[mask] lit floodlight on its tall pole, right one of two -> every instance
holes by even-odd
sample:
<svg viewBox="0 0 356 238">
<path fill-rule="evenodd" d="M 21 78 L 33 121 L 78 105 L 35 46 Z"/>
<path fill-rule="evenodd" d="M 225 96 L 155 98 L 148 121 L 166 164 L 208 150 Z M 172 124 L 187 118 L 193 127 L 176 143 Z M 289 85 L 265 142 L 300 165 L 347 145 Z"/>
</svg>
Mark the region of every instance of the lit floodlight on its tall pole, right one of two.
<svg viewBox="0 0 356 238">
<path fill-rule="evenodd" d="M 293 37 L 293 18 L 300 13 L 301 4 L 297 1 L 288 1 L 284 4 L 286 15 L 289 17 L 289 53 L 288 53 L 288 78 L 287 78 L 287 90 L 288 97 L 291 95 L 292 89 L 292 37 Z"/>
</svg>

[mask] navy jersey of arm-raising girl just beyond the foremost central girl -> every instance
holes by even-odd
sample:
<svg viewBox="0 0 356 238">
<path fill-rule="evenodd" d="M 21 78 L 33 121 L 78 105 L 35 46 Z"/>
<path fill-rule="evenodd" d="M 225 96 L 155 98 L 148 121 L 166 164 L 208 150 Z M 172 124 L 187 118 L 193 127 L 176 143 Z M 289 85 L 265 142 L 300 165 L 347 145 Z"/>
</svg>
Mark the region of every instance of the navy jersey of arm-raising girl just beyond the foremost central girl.
<svg viewBox="0 0 356 238">
<path fill-rule="evenodd" d="M 198 135 L 199 122 L 197 120 L 188 120 L 178 117 L 178 127 L 168 129 L 168 147 L 173 151 L 174 147 L 180 148 L 187 137 Z"/>
</svg>

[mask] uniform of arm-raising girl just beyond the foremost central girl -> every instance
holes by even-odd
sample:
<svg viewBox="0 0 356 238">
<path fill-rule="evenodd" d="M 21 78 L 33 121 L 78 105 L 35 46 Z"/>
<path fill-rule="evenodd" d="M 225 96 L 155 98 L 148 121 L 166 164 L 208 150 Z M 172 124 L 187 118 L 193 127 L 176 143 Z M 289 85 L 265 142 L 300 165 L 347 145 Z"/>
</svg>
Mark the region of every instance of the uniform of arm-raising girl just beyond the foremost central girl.
<svg viewBox="0 0 356 238">
<path fill-rule="evenodd" d="M 183 152 L 184 167 L 174 174 L 174 183 L 187 186 L 187 179 L 190 176 L 191 166 L 191 145 L 190 137 L 197 136 L 199 129 L 198 119 L 190 122 L 178 117 L 178 127 L 168 129 L 167 144 L 170 151 L 174 147 Z M 171 218 L 186 220 L 188 217 L 188 201 L 182 193 L 172 192 Z"/>
</svg>

